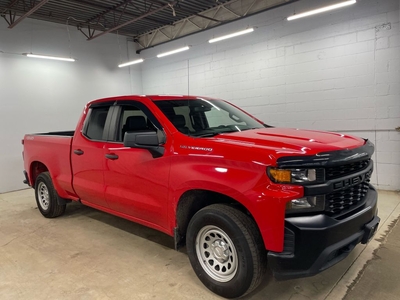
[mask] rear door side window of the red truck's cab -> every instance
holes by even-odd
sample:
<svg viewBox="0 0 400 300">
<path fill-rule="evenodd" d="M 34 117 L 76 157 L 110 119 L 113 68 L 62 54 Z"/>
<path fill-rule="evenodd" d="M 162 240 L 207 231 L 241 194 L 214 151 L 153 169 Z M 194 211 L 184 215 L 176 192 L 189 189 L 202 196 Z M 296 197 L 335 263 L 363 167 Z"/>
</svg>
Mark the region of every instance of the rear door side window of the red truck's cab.
<svg viewBox="0 0 400 300">
<path fill-rule="evenodd" d="M 93 107 L 89 111 L 84 135 L 91 140 L 105 140 L 103 137 L 107 114 L 110 107 Z"/>
</svg>

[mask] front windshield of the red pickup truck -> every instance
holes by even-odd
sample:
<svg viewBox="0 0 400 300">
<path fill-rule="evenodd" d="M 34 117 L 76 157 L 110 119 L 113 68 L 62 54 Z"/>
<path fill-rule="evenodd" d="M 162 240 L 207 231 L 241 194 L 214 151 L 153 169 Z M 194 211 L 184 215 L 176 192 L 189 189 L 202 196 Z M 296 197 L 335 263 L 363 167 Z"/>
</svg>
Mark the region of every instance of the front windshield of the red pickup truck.
<svg viewBox="0 0 400 300">
<path fill-rule="evenodd" d="M 264 127 L 243 111 L 222 100 L 180 99 L 154 103 L 180 132 L 190 136 L 209 137 Z"/>
</svg>

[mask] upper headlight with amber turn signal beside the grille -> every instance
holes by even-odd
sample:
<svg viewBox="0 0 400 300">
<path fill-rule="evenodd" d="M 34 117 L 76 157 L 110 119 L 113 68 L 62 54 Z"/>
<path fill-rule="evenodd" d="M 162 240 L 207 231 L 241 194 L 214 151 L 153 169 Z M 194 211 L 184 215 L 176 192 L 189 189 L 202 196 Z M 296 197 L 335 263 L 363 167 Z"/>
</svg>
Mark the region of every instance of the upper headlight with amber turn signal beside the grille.
<svg viewBox="0 0 400 300">
<path fill-rule="evenodd" d="M 312 183 L 317 180 L 316 169 L 268 168 L 268 175 L 276 183 Z"/>
</svg>

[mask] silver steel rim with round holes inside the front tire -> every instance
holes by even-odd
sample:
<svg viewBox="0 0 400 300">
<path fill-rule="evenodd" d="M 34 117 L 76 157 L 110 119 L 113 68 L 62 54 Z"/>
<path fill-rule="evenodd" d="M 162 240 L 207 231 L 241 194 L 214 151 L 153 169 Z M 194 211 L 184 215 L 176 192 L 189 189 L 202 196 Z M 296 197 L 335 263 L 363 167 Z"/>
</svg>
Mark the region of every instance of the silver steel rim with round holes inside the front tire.
<svg viewBox="0 0 400 300">
<path fill-rule="evenodd" d="M 196 237 L 196 254 L 204 271 L 215 281 L 228 282 L 236 275 L 236 248 L 222 229 L 203 227 Z"/>
</svg>

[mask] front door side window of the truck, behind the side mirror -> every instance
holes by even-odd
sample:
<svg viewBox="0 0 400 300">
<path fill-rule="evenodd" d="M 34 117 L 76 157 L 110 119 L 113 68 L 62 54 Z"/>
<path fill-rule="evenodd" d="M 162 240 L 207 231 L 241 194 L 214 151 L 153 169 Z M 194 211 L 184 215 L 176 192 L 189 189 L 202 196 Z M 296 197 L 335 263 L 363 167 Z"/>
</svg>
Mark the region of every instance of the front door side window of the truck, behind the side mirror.
<svg viewBox="0 0 400 300">
<path fill-rule="evenodd" d="M 146 113 L 134 105 L 121 106 L 121 115 L 118 128 L 118 142 L 123 141 L 125 132 L 157 130 Z"/>
</svg>

